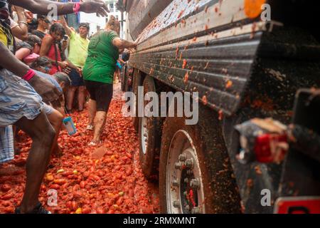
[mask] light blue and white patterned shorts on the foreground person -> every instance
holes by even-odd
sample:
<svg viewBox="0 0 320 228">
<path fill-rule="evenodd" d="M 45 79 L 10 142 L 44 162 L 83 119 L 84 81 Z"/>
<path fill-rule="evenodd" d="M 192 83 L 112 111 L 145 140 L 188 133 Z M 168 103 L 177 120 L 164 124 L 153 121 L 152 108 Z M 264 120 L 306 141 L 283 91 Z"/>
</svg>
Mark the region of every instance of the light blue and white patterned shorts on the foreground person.
<svg viewBox="0 0 320 228">
<path fill-rule="evenodd" d="M 0 128 L 26 117 L 34 120 L 43 110 L 40 95 L 26 81 L 10 71 L 0 71 Z"/>
</svg>

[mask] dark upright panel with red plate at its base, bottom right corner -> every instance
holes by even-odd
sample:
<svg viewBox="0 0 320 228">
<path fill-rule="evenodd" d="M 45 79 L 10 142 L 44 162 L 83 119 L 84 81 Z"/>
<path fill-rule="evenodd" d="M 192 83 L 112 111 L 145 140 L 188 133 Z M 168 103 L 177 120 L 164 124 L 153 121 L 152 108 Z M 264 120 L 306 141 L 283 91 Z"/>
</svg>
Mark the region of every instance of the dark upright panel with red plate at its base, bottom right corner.
<svg viewBox="0 0 320 228">
<path fill-rule="evenodd" d="M 284 161 L 277 213 L 320 213 L 320 90 L 300 90 L 294 106 L 293 143 Z M 306 130 L 307 129 L 307 130 Z"/>
</svg>

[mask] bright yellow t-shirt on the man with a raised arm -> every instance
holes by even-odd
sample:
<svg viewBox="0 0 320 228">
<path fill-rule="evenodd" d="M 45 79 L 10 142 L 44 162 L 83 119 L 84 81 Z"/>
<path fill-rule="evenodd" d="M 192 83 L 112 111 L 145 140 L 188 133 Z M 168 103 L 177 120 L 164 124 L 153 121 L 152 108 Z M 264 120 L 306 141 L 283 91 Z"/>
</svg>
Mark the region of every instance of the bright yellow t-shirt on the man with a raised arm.
<svg viewBox="0 0 320 228">
<path fill-rule="evenodd" d="M 89 43 L 90 41 L 87 38 L 81 38 L 81 36 L 78 33 L 75 33 L 75 31 L 71 32 L 68 59 L 75 66 L 80 68 L 85 66 Z"/>
</svg>

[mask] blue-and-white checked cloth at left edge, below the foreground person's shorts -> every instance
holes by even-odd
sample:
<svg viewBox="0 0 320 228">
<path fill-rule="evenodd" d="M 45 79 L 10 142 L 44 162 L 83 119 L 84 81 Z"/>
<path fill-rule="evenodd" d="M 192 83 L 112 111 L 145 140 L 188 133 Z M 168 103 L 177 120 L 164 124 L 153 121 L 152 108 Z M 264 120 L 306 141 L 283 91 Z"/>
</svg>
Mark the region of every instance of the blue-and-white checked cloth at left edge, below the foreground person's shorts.
<svg viewBox="0 0 320 228">
<path fill-rule="evenodd" d="M 14 160 L 14 131 L 12 126 L 0 128 L 0 164 Z"/>
</svg>

